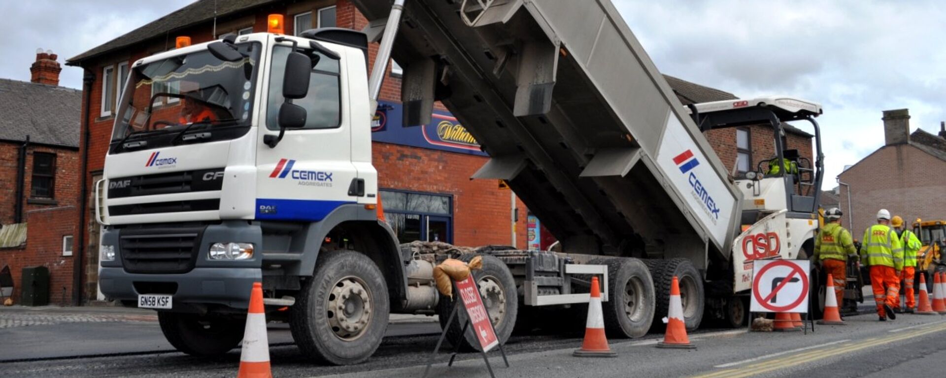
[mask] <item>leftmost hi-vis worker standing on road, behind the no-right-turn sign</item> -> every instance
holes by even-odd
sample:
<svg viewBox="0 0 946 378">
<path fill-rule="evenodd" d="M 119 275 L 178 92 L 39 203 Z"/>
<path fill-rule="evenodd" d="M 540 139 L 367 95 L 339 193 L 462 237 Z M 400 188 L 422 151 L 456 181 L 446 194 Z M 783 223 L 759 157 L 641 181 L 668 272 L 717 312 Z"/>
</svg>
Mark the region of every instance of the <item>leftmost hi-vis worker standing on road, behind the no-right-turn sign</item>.
<svg viewBox="0 0 946 378">
<path fill-rule="evenodd" d="M 848 255 L 857 254 L 850 232 L 841 226 L 842 215 L 844 214 L 841 213 L 841 209 L 837 207 L 825 211 L 825 220 L 828 224 L 818 231 L 818 237 L 815 238 L 815 254 L 812 256 L 815 264 L 820 263 L 825 272 L 832 275 L 834 297 L 837 297 L 838 306 L 844 303 Z"/>
</svg>

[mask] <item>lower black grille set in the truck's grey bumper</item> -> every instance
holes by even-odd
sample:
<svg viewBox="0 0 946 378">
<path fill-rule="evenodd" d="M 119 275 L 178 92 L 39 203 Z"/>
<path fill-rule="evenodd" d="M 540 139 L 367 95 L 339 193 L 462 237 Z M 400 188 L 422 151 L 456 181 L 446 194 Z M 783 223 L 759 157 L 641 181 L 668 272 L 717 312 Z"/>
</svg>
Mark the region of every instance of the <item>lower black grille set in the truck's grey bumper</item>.
<svg viewBox="0 0 946 378">
<path fill-rule="evenodd" d="M 129 273 L 186 273 L 194 268 L 204 226 L 127 228 L 119 249 Z"/>
</svg>

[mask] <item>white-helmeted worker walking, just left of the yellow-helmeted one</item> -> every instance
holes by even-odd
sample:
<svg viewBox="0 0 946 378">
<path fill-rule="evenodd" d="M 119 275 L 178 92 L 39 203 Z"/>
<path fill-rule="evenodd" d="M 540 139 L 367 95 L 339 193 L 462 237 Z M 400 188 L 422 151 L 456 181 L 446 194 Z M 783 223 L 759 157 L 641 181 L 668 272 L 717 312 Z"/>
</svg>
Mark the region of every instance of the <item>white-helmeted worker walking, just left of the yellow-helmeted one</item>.
<svg viewBox="0 0 946 378">
<path fill-rule="evenodd" d="M 890 211 L 877 211 L 877 225 L 864 230 L 861 261 L 870 267 L 870 286 L 877 303 L 880 321 L 897 318 L 893 312 L 894 298 L 900 296 L 900 275 L 903 269 L 903 248 L 897 234 L 890 228 Z"/>
</svg>

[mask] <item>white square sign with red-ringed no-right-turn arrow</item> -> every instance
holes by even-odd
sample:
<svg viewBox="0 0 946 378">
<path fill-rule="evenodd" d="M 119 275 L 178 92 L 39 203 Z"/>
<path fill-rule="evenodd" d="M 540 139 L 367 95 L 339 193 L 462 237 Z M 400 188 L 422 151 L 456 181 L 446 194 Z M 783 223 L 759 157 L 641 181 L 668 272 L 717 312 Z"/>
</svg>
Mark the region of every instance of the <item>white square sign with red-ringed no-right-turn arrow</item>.
<svg viewBox="0 0 946 378">
<path fill-rule="evenodd" d="M 808 313 L 807 260 L 753 261 L 752 300 L 756 313 Z"/>
</svg>

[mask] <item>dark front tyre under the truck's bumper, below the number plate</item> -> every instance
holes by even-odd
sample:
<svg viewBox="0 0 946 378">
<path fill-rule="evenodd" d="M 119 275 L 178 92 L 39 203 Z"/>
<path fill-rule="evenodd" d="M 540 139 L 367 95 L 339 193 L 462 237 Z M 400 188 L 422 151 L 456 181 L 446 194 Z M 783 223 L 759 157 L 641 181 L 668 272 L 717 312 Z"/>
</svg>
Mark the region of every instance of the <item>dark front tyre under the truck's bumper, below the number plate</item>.
<svg viewBox="0 0 946 378">
<path fill-rule="evenodd" d="M 178 351 L 214 356 L 234 349 L 243 340 L 246 319 L 158 312 L 167 342 Z"/>
</svg>

